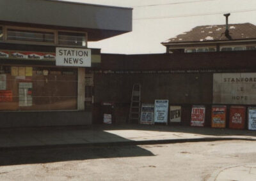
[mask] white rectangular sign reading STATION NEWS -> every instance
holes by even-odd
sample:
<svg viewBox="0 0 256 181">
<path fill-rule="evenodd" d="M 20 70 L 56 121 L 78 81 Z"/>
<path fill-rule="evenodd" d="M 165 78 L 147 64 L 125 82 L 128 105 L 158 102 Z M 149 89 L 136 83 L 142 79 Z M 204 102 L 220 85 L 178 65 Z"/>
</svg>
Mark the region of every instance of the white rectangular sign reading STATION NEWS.
<svg viewBox="0 0 256 181">
<path fill-rule="evenodd" d="M 91 67 L 91 50 L 56 47 L 56 66 Z"/>
</svg>

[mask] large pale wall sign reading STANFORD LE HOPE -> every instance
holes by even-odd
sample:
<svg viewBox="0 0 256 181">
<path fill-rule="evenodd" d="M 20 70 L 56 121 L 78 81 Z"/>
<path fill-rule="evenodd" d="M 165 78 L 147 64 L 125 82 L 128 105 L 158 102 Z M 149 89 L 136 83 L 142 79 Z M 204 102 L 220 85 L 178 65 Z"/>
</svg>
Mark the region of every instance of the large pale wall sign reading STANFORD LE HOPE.
<svg viewBox="0 0 256 181">
<path fill-rule="evenodd" d="M 254 105 L 256 73 L 214 73 L 213 103 Z"/>
</svg>

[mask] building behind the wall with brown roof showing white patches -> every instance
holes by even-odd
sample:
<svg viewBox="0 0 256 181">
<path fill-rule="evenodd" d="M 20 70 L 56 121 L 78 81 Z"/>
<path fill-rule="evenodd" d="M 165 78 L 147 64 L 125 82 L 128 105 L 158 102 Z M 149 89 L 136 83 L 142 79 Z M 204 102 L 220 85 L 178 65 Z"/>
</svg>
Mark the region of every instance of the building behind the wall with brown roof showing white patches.
<svg viewBox="0 0 256 181">
<path fill-rule="evenodd" d="M 250 23 L 197 26 L 162 45 L 168 54 L 256 50 L 256 26 Z"/>
</svg>

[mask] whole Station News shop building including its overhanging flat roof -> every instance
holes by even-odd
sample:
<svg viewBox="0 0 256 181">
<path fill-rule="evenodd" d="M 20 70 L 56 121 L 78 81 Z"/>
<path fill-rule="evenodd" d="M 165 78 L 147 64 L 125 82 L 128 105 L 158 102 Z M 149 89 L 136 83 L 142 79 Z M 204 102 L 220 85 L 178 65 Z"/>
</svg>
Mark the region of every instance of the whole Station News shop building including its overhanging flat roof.
<svg viewBox="0 0 256 181">
<path fill-rule="evenodd" d="M 101 58 L 88 41 L 131 30 L 131 8 L 1 0 L 0 127 L 92 124 Z"/>
</svg>

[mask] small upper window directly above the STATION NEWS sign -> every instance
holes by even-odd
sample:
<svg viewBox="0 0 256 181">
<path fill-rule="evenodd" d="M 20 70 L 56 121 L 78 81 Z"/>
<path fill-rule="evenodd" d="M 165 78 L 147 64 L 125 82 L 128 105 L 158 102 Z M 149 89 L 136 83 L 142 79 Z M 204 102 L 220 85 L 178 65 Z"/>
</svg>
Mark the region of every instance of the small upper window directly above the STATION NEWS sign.
<svg viewBox="0 0 256 181">
<path fill-rule="evenodd" d="M 73 32 L 58 32 L 59 45 L 71 45 L 77 47 L 86 47 L 86 34 Z"/>
</svg>

